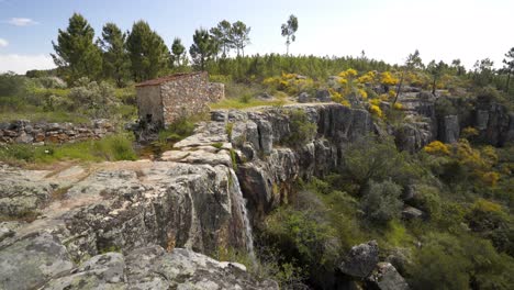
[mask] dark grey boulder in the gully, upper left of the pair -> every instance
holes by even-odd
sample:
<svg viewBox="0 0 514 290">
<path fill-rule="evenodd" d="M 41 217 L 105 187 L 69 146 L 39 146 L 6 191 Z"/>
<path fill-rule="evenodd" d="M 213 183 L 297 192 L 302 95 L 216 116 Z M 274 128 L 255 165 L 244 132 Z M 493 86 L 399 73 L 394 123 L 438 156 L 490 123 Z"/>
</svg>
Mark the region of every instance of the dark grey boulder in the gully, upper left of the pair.
<svg viewBox="0 0 514 290">
<path fill-rule="evenodd" d="M 351 247 L 339 265 L 339 270 L 346 275 L 366 278 L 379 261 L 379 247 L 376 241 Z"/>
</svg>

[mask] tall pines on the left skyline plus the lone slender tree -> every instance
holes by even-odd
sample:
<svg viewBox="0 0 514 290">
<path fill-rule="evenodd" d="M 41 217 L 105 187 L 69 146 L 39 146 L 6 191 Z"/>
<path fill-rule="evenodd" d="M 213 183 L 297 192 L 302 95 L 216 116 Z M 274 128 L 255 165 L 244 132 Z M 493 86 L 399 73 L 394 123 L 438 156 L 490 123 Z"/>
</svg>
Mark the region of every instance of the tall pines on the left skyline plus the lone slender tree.
<svg viewBox="0 0 514 290">
<path fill-rule="evenodd" d="M 298 19 L 291 15 L 282 25 L 288 52 L 297 30 Z M 127 80 L 143 81 L 191 68 L 205 70 L 211 60 L 226 59 L 231 52 L 235 52 L 237 58 L 244 58 L 245 47 L 250 44 L 250 31 L 252 27 L 242 21 L 231 23 L 226 20 L 210 30 L 200 27 L 192 36 L 189 58 L 179 37 L 169 49 L 146 21 L 135 22 L 127 32 L 122 32 L 114 23 L 107 23 L 101 36 L 94 40 L 92 26 L 81 14 L 74 13 L 68 27 L 58 30 L 57 42 L 52 42 L 55 49 L 52 57 L 59 76 L 68 83 L 80 77 L 109 78 L 123 87 Z"/>
</svg>

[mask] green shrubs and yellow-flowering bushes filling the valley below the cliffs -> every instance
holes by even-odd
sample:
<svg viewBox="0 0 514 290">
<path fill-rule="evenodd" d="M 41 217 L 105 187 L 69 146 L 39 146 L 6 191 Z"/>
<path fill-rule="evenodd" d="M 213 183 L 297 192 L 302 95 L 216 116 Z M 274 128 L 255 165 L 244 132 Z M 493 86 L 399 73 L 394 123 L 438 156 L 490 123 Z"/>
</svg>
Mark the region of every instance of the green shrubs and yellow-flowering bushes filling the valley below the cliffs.
<svg viewBox="0 0 514 290">
<path fill-rule="evenodd" d="M 317 277 L 337 267 L 334 257 L 377 239 L 381 256 L 414 289 L 512 288 L 512 197 L 500 193 L 512 192 L 512 182 L 501 181 L 512 180 L 505 170 L 513 168 L 506 157 L 512 145 L 495 149 L 461 140 L 407 155 L 391 140 L 362 142 L 343 154 L 334 174 L 297 185 L 293 200 L 257 228 L 261 247 L 278 249 L 281 263 L 317 287 L 324 283 Z M 405 199 L 409 190 L 415 196 Z M 403 205 L 424 214 L 402 217 Z"/>
</svg>

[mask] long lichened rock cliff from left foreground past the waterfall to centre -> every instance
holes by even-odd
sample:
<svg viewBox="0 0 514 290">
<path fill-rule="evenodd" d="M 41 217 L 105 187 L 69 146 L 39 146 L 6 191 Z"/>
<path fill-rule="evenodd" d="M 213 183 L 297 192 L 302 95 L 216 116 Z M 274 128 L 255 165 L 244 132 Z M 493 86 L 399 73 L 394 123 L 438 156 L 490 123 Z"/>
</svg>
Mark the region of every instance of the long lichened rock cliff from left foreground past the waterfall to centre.
<svg viewBox="0 0 514 290">
<path fill-rule="evenodd" d="M 294 133 L 288 112 L 297 109 L 317 124 L 317 135 L 294 148 L 281 147 Z M 328 172 L 340 161 L 344 145 L 371 129 L 366 111 L 338 104 L 214 112 L 212 122 L 200 124 L 194 135 L 177 143 L 160 160 L 53 171 L 2 166 L 0 285 L 7 289 L 72 286 L 78 276 L 92 275 L 78 268 L 83 263 L 131 274 L 134 253 L 148 246 L 163 253 L 185 247 L 206 254 L 236 247 L 252 255 L 247 209 L 261 216 L 288 198 L 291 181 Z M 103 254 L 112 252 L 123 255 Z M 105 260 L 114 264 L 105 266 Z M 164 271 L 161 264 L 146 275 Z M 98 281 L 92 276 L 94 283 L 133 286 L 137 280 L 124 275 Z M 244 281 L 247 289 L 265 287 L 249 278 Z M 180 281 L 167 282 L 163 288 Z"/>
</svg>

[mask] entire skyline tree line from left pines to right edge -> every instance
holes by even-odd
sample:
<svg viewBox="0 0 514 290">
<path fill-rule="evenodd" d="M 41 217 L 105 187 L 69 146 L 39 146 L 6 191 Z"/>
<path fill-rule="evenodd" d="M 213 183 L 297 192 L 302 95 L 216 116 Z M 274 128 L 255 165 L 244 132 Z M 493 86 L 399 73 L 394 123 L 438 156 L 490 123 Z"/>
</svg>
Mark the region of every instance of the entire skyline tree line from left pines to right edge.
<svg viewBox="0 0 514 290">
<path fill-rule="evenodd" d="M 425 66 L 418 51 L 409 55 L 403 65 L 394 66 L 369 59 L 365 52 L 360 57 L 293 57 L 289 55 L 289 46 L 295 41 L 298 27 L 299 21 L 294 15 L 290 15 L 280 27 L 281 35 L 286 38 L 286 55 L 246 56 L 245 48 L 250 44 L 252 27 L 242 21 L 231 23 L 223 20 L 209 30 L 195 30 L 193 43 L 187 49 L 179 37 L 168 48 L 163 37 L 143 20 L 135 22 L 127 32 L 122 32 L 114 23 L 107 23 L 101 36 L 94 40 L 91 25 L 81 14 L 75 13 L 69 19 L 68 27 L 58 31 L 57 43 L 53 42 L 55 54 L 52 57 L 58 67 L 58 75 L 68 83 L 86 76 L 90 79 L 111 79 L 119 87 L 128 81 L 144 81 L 192 69 L 247 81 L 277 76 L 283 71 L 320 79 L 355 68 L 359 71 L 396 70 L 401 77 L 398 93 L 401 91 L 403 77 L 416 70 L 432 76 L 433 91 L 445 74 L 470 78 L 481 87 L 495 85 L 509 91 L 511 76 L 514 74 L 514 47 L 505 54 L 504 66 L 498 70 L 489 58 L 477 60 L 470 71 L 466 70 L 460 59 L 455 59 L 451 64 L 432 60 Z"/>
</svg>

